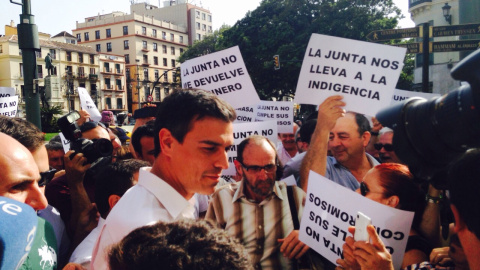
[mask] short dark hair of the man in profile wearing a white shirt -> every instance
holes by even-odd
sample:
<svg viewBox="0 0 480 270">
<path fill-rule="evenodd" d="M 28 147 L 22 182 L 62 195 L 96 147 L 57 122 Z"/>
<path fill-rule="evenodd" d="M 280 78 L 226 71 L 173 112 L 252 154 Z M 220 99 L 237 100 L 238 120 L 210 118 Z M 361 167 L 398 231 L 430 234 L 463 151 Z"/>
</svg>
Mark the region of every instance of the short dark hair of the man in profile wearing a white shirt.
<svg viewBox="0 0 480 270">
<path fill-rule="evenodd" d="M 204 90 L 174 90 L 158 107 L 155 120 L 155 157 L 161 152 L 158 133 L 168 129 L 173 137 L 183 143 L 185 135 L 192 129 L 193 122 L 204 117 L 213 117 L 233 122 L 236 113 L 233 107 L 211 92 Z"/>
</svg>

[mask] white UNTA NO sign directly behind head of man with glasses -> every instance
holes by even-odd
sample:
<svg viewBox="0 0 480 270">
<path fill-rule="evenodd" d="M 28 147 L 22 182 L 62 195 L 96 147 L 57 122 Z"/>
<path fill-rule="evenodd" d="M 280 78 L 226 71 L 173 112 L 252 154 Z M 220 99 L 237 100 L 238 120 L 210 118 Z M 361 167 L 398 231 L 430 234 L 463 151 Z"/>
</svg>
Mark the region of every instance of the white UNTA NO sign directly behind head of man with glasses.
<svg viewBox="0 0 480 270">
<path fill-rule="evenodd" d="M 237 159 L 237 147 L 246 138 L 252 135 L 261 135 L 269 138 L 273 145 L 277 145 L 277 123 L 275 121 L 233 123 L 233 146 L 228 152 L 228 169 L 223 170 L 223 175 L 235 175 L 233 161 Z"/>
</svg>

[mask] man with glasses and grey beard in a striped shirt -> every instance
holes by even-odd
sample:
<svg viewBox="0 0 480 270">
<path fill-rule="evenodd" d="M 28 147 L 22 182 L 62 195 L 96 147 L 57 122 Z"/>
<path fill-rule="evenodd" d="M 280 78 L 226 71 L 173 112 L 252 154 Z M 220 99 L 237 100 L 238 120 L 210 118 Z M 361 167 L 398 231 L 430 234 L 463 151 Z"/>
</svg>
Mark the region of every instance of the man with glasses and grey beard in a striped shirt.
<svg viewBox="0 0 480 270">
<path fill-rule="evenodd" d="M 242 180 L 212 195 L 205 219 L 236 237 L 255 269 L 291 269 L 291 259 L 302 257 L 308 246 L 294 230 L 287 187 L 276 181 L 281 168 L 273 143 L 258 135 L 245 139 L 234 163 Z M 300 220 L 306 195 L 298 187 L 292 191 L 298 213 L 293 218 Z"/>
</svg>

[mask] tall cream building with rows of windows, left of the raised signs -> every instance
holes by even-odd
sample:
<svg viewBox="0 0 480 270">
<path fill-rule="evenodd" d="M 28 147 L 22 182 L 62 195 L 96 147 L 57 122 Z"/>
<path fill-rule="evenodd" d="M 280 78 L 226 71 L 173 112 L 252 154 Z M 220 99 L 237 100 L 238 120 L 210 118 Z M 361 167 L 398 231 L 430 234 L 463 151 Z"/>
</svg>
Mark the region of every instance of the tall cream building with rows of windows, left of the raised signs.
<svg viewBox="0 0 480 270">
<path fill-rule="evenodd" d="M 161 101 L 168 94 L 171 71 L 188 46 L 187 28 L 135 12 L 85 18 L 85 22 L 77 22 L 73 35 L 78 44 L 91 46 L 98 53 L 124 57 L 129 112 L 141 107 L 150 95 Z M 157 79 L 163 83 L 155 84 Z"/>
</svg>

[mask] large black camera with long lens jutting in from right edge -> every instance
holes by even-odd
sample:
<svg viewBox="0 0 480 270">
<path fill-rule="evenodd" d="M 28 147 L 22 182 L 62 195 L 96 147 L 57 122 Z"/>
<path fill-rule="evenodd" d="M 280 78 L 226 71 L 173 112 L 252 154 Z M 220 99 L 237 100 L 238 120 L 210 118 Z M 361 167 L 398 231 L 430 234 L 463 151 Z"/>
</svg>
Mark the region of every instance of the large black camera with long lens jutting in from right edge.
<svg viewBox="0 0 480 270">
<path fill-rule="evenodd" d="M 425 100 L 410 98 L 377 114 L 393 129 L 393 148 L 419 179 L 446 188 L 446 168 L 466 150 L 480 147 L 480 50 L 451 71 L 467 81 L 450 93 Z"/>
</svg>

